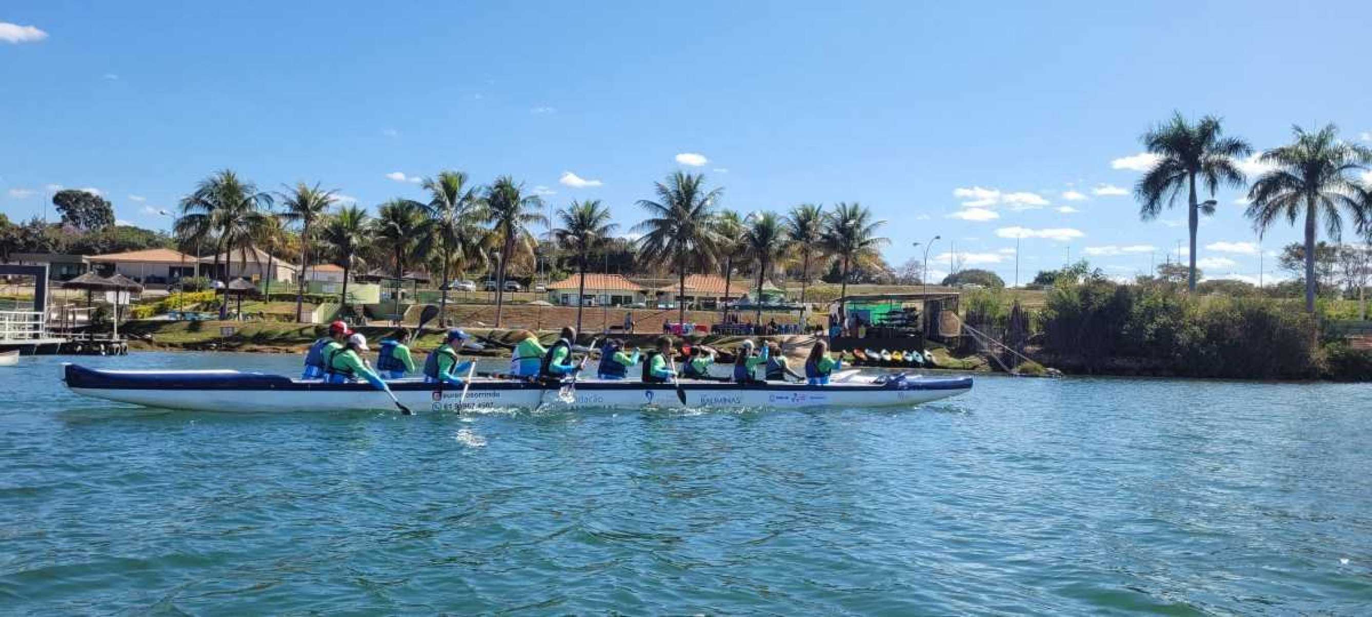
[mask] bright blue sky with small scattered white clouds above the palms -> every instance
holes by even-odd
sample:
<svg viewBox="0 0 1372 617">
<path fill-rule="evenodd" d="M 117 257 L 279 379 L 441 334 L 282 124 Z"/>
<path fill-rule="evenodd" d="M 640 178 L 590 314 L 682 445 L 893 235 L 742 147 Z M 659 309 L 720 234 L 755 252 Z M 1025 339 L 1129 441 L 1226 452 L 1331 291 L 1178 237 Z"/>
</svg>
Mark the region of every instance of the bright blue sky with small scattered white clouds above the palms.
<svg viewBox="0 0 1372 617">
<path fill-rule="evenodd" d="M 0 211 L 89 186 L 165 229 L 224 167 L 366 206 L 461 169 L 627 230 L 686 169 L 745 213 L 870 206 L 893 265 L 940 234 L 930 270 L 952 248 L 1013 281 L 1021 229 L 1022 281 L 1069 255 L 1132 276 L 1185 239 L 1184 208 L 1144 223 L 1114 195 L 1173 110 L 1258 148 L 1292 123 L 1372 138 L 1372 3 L 956 4 L 8 0 Z M 1200 226 L 1207 276 L 1258 274 L 1239 196 Z"/>
</svg>

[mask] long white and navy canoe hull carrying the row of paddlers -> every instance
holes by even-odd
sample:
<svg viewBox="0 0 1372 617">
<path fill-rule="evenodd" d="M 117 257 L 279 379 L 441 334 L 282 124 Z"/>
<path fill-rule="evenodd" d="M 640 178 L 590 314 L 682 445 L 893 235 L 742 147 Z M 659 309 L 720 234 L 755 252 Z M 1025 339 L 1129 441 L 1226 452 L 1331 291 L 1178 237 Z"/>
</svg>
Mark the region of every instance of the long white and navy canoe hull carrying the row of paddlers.
<svg viewBox="0 0 1372 617">
<path fill-rule="evenodd" d="M 73 392 L 147 407 L 199 411 L 332 411 L 395 409 L 386 392 L 359 384 L 325 384 L 280 374 L 237 370 L 96 370 L 66 365 Z M 575 388 L 514 380 L 476 378 L 465 389 L 420 380 L 388 381 L 401 403 L 423 410 L 462 407 L 899 407 L 947 399 L 971 389 L 971 377 L 925 378 L 856 372 L 829 385 L 733 384 L 682 380 L 679 384 L 578 381 Z M 685 399 L 685 400 L 683 400 Z"/>
</svg>

